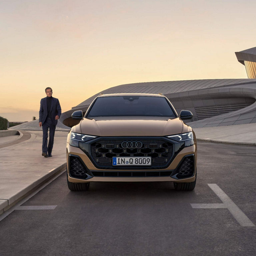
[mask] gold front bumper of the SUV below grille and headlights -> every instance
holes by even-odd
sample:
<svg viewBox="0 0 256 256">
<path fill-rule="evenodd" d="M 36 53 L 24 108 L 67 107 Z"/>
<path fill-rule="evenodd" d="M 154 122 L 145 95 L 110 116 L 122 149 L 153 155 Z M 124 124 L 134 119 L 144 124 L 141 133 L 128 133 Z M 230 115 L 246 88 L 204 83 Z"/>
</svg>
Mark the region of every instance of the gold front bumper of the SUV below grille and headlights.
<svg viewBox="0 0 256 256">
<path fill-rule="evenodd" d="M 73 169 L 70 167 L 71 159 L 77 158 L 80 161 L 80 164 L 85 168 L 85 175 L 74 175 Z M 193 163 L 190 161 L 186 162 L 186 164 L 193 164 L 193 171 L 191 172 L 189 177 L 186 170 L 183 171 L 186 175 L 177 175 L 178 168 L 181 168 L 181 165 L 184 164 L 184 159 L 192 159 Z M 79 170 L 79 161 L 75 161 L 75 165 L 78 165 Z M 97 168 L 95 167 L 93 161 L 80 149 L 77 147 L 70 146 L 67 143 L 67 171 L 68 171 L 68 180 L 73 183 L 84 183 L 91 181 L 109 181 L 109 182 L 155 182 L 155 181 L 174 181 L 174 182 L 193 182 L 195 180 L 196 174 L 196 161 L 197 161 L 197 149 L 196 143 L 190 147 L 185 147 L 180 150 L 175 157 L 170 162 L 170 165 L 167 168 L 161 169 L 121 169 L 121 168 Z M 73 164 L 73 163 L 72 163 Z M 72 175 L 70 173 L 72 172 Z M 74 177 L 75 176 L 75 177 Z"/>
</svg>

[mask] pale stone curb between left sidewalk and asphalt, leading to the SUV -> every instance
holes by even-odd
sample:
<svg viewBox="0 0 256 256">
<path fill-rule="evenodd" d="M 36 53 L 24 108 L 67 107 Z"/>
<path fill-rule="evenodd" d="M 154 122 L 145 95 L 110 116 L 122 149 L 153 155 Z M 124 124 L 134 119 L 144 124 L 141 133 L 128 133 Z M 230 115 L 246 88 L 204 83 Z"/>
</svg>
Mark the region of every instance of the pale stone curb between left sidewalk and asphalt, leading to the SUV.
<svg viewBox="0 0 256 256">
<path fill-rule="evenodd" d="M 58 167 L 50 170 L 47 174 L 45 174 L 43 177 L 39 178 L 38 180 L 34 181 L 32 184 L 28 185 L 15 195 L 13 195 L 9 199 L 0 199 L 0 215 L 7 211 L 9 208 L 17 204 L 21 199 L 31 194 L 33 191 L 35 191 L 37 188 L 42 186 L 45 182 L 50 180 L 53 176 L 61 173 L 62 171 L 66 170 L 66 162 L 59 165 Z"/>
</svg>

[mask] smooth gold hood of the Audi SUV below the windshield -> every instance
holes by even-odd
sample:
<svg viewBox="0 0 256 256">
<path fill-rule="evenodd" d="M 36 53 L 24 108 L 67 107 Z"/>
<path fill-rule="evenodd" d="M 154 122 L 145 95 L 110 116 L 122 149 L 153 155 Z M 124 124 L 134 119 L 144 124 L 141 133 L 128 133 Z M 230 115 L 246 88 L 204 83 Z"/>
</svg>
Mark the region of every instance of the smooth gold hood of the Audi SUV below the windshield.
<svg viewBox="0 0 256 256">
<path fill-rule="evenodd" d="M 187 132 L 188 127 L 179 118 L 166 117 L 115 118 L 115 120 L 84 118 L 75 132 L 95 136 L 166 136 Z"/>
</svg>

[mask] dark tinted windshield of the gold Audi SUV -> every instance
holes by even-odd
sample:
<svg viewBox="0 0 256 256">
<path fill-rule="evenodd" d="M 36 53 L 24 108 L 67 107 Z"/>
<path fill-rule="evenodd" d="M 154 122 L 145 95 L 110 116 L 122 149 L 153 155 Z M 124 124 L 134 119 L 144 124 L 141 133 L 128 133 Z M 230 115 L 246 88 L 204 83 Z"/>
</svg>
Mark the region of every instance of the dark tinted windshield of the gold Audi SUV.
<svg viewBox="0 0 256 256">
<path fill-rule="evenodd" d="M 166 116 L 176 117 L 164 97 L 111 96 L 99 97 L 87 117 L 99 116 Z"/>
</svg>

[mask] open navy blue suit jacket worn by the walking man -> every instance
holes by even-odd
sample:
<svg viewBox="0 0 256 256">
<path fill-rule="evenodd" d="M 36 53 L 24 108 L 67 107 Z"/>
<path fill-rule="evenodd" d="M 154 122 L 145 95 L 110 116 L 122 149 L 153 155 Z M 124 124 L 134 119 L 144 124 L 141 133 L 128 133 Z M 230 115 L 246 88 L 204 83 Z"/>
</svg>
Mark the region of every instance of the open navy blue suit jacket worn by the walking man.
<svg viewBox="0 0 256 256">
<path fill-rule="evenodd" d="M 42 125 L 44 124 L 47 115 L 48 115 L 48 111 L 47 111 L 47 101 L 46 98 L 42 98 L 40 101 L 40 110 L 39 110 L 39 123 L 42 122 Z M 51 103 L 51 119 L 52 122 L 57 125 L 58 120 L 55 120 L 55 116 L 59 116 L 61 115 L 61 107 L 60 107 L 60 103 L 59 100 L 57 98 L 53 98 L 52 97 L 52 103 Z"/>
</svg>

